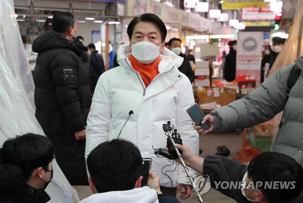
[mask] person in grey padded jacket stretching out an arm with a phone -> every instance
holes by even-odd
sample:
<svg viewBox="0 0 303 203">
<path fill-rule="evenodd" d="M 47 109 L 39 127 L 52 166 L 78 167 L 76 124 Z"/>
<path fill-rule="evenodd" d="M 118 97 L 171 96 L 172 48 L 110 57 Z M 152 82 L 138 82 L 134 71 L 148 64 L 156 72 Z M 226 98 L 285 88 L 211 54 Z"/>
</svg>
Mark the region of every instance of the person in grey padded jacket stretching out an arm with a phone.
<svg viewBox="0 0 303 203">
<path fill-rule="evenodd" d="M 278 70 L 249 95 L 211 111 L 203 118 L 202 123 L 208 120 L 212 127 L 203 132 L 199 126 L 195 126 L 197 132 L 206 134 L 213 130 L 228 131 L 252 127 L 270 120 L 284 110 L 284 121 L 278 130 L 271 151 L 289 155 L 303 165 L 303 114 L 301 111 L 303 56 L 296 59 L 295 64 L 301 72 L 297 82 L 291 88 L 288 100 L 286 100 L 287 81 L 294 64 Z"/>
</svg>

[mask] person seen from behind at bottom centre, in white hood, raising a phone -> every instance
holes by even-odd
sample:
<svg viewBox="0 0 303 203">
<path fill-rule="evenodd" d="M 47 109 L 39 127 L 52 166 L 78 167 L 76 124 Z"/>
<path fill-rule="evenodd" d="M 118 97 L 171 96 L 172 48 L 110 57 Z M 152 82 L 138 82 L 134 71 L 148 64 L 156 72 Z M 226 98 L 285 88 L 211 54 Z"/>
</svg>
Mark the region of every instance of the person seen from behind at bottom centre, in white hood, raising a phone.
<svg viewBox="0 0 303 203">
<path fill-rule="evenodd" d="M 96 161 L 98 160 L 98 161 Z M 178 203 L 160 191 L 160 179 L 149 171 L 148 187 L 141 187 L 142 157 L 130 141 L 113 139 L 98 145 L 87 158 L 88 179 L 94 195 L 80 203 Z M 180 203 L 180 202 L 179 202 Z"/>
</svg>

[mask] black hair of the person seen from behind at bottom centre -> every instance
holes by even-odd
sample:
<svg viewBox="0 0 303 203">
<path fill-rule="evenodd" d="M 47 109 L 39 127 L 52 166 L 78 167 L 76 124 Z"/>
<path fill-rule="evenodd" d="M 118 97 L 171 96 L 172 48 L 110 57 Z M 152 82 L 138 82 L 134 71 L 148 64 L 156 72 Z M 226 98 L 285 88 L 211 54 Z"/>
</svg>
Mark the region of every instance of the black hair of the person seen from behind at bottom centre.
<svg viewBox="0 0 303 203">
<path fill-rule="evenodd" d="M 132 142 L 114 139 L 91 151 L 87 168 L 98 193 L 131 190 L 142 173 L 142 157 Z"/>
</svg>

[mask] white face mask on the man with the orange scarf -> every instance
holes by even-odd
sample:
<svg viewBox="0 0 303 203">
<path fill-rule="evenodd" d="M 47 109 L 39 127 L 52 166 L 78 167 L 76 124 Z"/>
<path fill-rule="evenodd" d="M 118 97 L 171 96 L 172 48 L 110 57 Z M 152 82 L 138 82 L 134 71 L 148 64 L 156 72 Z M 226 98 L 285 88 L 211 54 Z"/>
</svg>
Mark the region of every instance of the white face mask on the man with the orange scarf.
<svg viewBox="0 0 303 203">
<path fill-rule="evenodd" d="M 132 55 L 138 62 L 143 64 L 149 64 L 153 62 L 160 55 L 160 46 L 157 46 L 151 42 L 142 41 L 132 44 Z"/>
</svg>

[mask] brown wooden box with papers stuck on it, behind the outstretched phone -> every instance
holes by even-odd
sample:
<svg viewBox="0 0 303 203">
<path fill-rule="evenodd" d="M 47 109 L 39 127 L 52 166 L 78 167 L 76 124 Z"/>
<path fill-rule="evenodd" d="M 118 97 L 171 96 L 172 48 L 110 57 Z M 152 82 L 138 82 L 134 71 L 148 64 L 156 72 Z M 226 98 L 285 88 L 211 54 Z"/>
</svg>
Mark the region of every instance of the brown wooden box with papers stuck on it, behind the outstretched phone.
<svg viewBox="0 0 303 203">
<path fill-rule="evenodd" d="M 220 88 L 224 88 L 224 91 L 221 92 L 221 90 L 219 90 L 220 92 L 219 97 L 214 96 L 214 91 L 211 92 L 210 96 L 207 96 L 208 89 L 213 89 L 213 88 L 209 88 L 209 87 L 202 87 L 202 89 L 196 88 L 197 96 L 200 99 L 199 105 L 216 101 L 217 104 L 221 106 L 225 106 L 236 100 L 236 89 L 219 87 L 219 89 Z"/>
</svg>

